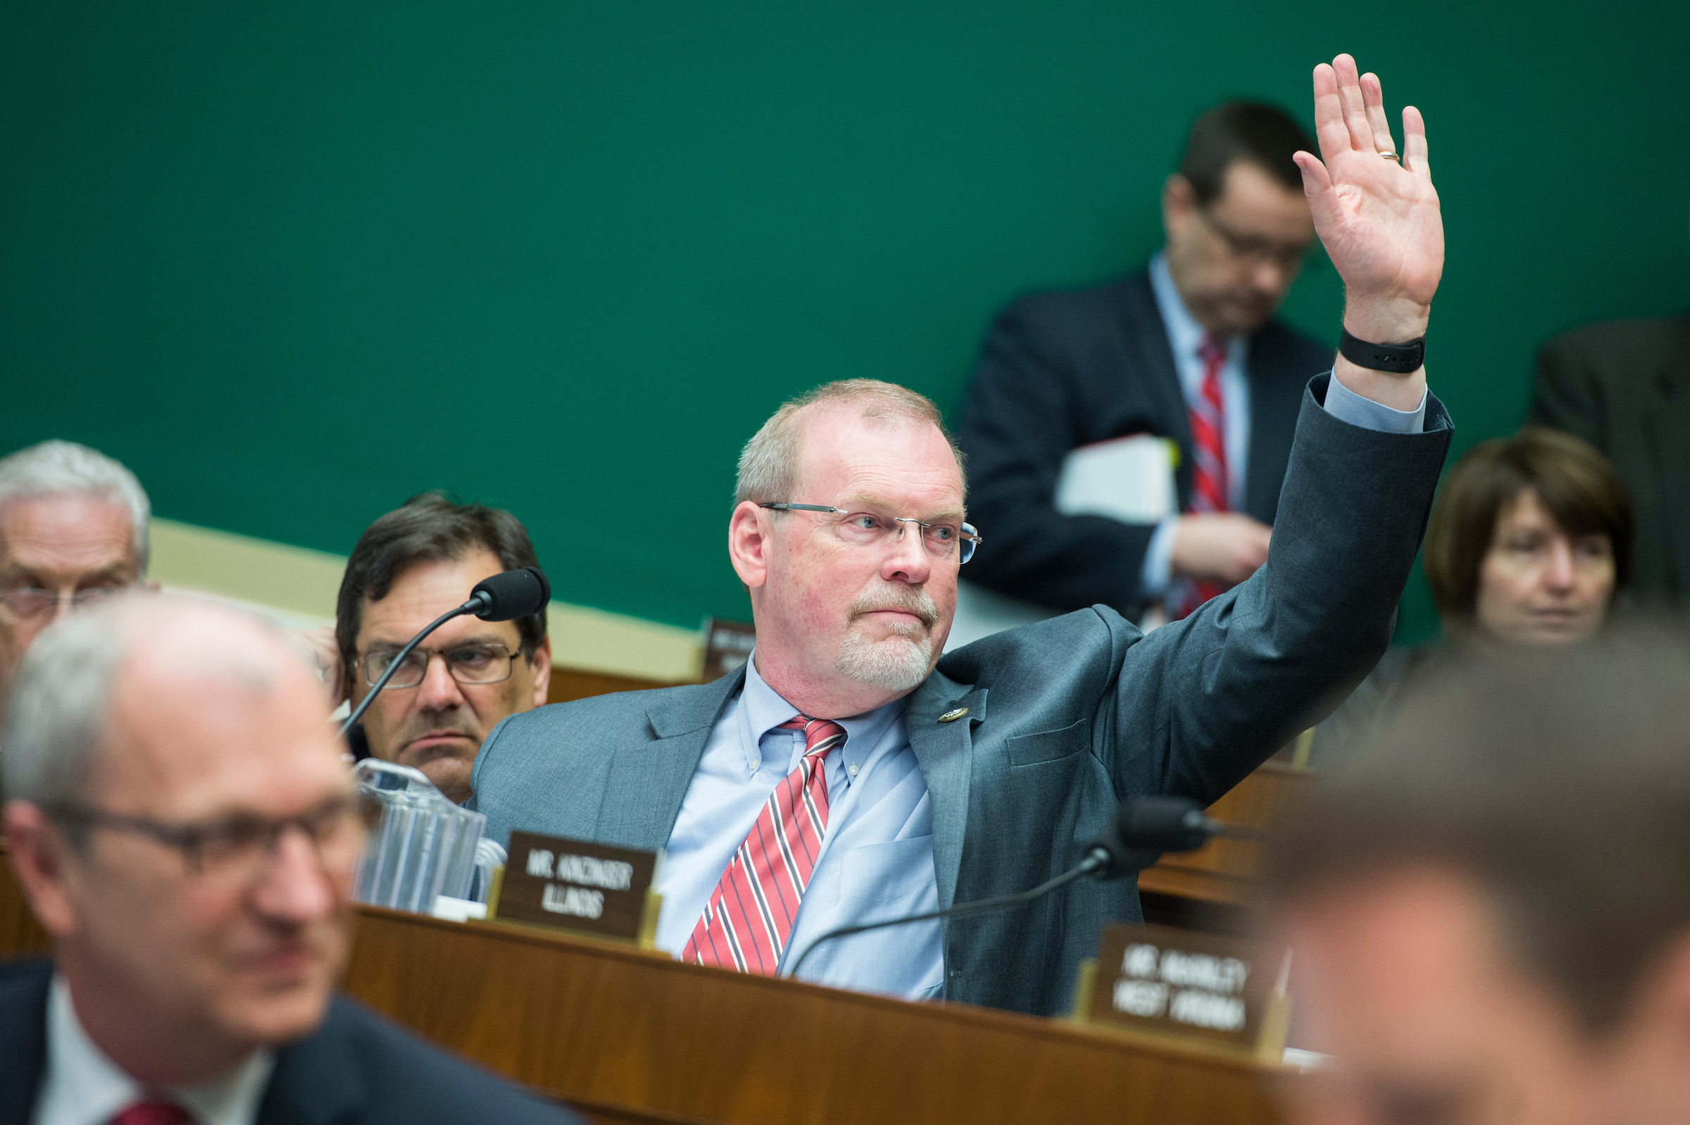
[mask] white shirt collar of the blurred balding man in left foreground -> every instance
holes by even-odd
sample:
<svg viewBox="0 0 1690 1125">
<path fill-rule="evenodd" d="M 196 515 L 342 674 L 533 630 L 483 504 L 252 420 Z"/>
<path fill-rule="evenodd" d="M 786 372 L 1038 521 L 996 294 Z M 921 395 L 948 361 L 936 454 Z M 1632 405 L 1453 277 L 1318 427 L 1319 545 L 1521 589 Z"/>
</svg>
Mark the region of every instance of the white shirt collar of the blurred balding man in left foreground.
<svg viewBox="0 0 1690 1125">
<path fill-rule="evenodd" d="M 274 1051 L 252 1056 L 218 1078 L 191 1086 L 164 1086 L 169 1098 L 203 1125 L 252 1125 L 275 1069 Z M 35 1117 L 42 1125 L 103 1125 L 149 1091 L 117 1066 L 95 1040 L 71 1003 L 71 988 L 57 973 L 47 998 L 47 1083 Z"/>
</svg>

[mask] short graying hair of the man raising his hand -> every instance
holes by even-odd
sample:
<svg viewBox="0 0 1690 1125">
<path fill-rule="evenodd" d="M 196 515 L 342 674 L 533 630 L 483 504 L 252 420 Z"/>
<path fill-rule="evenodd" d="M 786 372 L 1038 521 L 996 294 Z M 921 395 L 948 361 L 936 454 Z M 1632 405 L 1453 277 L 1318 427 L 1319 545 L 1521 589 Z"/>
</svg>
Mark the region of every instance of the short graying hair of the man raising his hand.
<svg viewBox="0 0 1690 1125">
<path fill-rule="evenodd" d="M 957 472 L 963 479 L 963 491 L 968 487 L 968 475 L 963 470 L 962 450 L 957 438 L 945 428 L 945 416 L 926 394 L 918 394 L 896 382 L 879 379 L 840 379 L 823 382 L 820 387 L 804 391 L 774 411 L 769 421 L 752 435 L 745 448 L 740 450 L 739 479 L 733 487 L 733 506 L 745 501 L 755 504 L 808 502 L 804 497 L 791 496 L 798 477 L 799 423 L 798 414 L 818 404 L 848 403 L 860 406 L 862 418 L 884 421 L 908 421 L 916 425 L 933 425 L 945 435 L 951 453 L 957 457 Z"/>
</svg>

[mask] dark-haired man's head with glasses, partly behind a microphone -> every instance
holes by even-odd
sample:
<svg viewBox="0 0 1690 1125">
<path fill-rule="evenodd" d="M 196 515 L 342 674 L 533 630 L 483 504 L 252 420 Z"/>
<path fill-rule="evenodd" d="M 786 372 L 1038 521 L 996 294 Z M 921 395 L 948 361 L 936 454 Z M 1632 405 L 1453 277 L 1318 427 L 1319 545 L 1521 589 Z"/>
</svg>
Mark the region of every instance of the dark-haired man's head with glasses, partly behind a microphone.
<svg viewBox="0 0 1690 1125">
<path fill-rule="evenodd" d="M 335 607 L 341 694 L 357 705 L 417 629 L 461 606 L 482 579 L 537 567 L 507 511 L 412 497 L 365 530 Z M 546 616 L 456 617 L 412 650 L 363 712 L 365 753 L 416 766 L 451 800 L 470 797 L 482 739 L 505 716 L 539 707 L 551 685 Z"/>
</svg>

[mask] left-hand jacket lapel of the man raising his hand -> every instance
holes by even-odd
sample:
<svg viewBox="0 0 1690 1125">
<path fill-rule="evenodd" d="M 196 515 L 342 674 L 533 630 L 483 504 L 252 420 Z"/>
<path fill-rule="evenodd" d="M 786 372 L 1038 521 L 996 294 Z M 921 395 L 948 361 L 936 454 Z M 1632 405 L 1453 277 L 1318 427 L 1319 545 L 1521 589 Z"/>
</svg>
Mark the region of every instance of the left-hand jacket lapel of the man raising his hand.
<svg viewBox="0 0 1690 1125">
<path fill-rule="evenodd" d="M 745 670 L 740 668 L 710 683 L 705 692 L 659 695 L 647 707 L 652 741 L 617 748 L 593 839 L 644 851 L 657 851 L 669 842 L 710 729 L 744 682 Z"/>
</svg>

